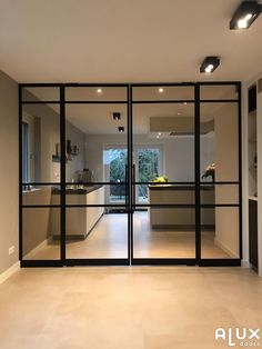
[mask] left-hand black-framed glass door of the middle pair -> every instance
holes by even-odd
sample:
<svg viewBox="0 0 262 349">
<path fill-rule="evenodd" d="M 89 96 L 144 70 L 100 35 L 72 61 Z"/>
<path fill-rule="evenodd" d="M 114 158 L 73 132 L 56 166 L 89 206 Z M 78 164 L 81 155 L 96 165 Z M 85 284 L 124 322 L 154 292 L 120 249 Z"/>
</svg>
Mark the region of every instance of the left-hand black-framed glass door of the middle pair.
<svg viewBox="0 0 262 349">
<path fill-rule="evenodd" d="M 125 86 L 66 88 L 68 265 L 129 262 L 128 128 Z"/>
</svg>

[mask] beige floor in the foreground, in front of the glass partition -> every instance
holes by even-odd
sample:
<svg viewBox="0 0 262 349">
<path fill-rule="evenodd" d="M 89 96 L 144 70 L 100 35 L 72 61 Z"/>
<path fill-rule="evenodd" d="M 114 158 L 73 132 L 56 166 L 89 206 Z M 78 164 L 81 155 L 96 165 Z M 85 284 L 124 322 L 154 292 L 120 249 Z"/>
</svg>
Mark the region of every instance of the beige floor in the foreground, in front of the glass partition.
<svg viewBox="0 0 262 349">
<path fill-rule="evenodd" d="M 229 348 L 214 340 L 218 327 L 262 327 L 253 271 L 22 269 L 0 286 L 1 349 Z"/>
</svg>

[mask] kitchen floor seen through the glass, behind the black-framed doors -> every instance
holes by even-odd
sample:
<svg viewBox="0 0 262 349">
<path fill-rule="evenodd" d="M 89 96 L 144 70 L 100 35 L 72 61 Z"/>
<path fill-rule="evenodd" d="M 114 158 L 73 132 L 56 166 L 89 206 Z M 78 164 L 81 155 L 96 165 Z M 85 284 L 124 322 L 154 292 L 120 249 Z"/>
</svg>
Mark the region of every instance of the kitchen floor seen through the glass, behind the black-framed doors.
<svg viewBox="0 0 262 349">
<path fill-rule="evenodd" d="M 133 220 L 135 258 L 194 258 L 195 232 L 151 229 L 148 212 Z M 84 241 L 68 241 L 67 258 L 127 258 L 127 215 L 104 215 Z M 202 232 L 203 258 L 230 258 L 214 243 L 214 231 Z M 59 259 L 58 242 L 38 250 L 29 259 Z"/>
</svg>

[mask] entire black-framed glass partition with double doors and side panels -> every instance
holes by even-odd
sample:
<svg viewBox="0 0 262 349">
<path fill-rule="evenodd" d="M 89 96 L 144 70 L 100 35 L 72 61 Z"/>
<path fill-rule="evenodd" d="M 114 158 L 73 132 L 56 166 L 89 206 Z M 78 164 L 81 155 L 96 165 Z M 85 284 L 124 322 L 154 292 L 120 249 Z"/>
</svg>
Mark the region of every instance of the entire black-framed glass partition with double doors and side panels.
<svg viewBox="0 0 262 349">
<path fill-rule="evenodd" d="M 23 267 L 239 266 L 241 83 L 19 86 Z"/>
</svg>

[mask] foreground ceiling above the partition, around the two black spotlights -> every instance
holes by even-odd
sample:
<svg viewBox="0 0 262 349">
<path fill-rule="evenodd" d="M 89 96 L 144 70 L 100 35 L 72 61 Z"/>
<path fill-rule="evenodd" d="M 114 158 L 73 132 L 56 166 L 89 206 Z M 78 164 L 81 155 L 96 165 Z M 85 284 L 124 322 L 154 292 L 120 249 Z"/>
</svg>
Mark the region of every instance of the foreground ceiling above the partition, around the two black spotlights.
<svg viewBox="0 0 262 349">
<path fill-rule="evenodd" d="M 230 31 L 241 0 L 1 0 L 0 69 L 19 82 L 248 80 L 262 16 Z M 220 56 L 213 74 L 199 73 Z"/>
</svg>

